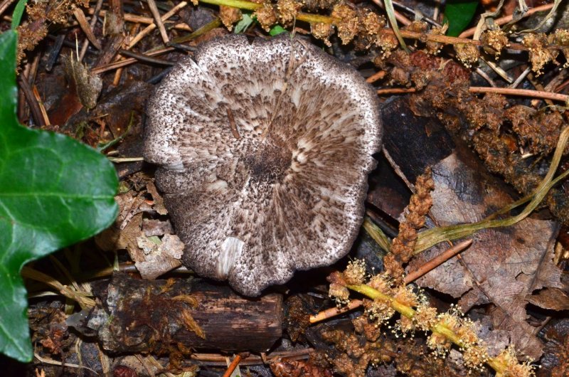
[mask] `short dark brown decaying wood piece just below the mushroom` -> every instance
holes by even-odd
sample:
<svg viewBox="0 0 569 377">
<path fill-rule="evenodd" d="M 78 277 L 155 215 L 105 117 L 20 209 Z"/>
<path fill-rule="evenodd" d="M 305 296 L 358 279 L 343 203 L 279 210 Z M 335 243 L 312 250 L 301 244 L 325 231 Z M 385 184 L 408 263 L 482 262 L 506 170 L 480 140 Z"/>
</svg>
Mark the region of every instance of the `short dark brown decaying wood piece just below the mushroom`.
<svg viewBox="0 0 569 377">
<path fill-rule="evenodd" d="M 282 296 L 250 299 L 202 280 L 139 280 L 116 273 L 93 284 L 87 318 L 111 352 L 267 351 L 282 336 Z"/>
</svg>

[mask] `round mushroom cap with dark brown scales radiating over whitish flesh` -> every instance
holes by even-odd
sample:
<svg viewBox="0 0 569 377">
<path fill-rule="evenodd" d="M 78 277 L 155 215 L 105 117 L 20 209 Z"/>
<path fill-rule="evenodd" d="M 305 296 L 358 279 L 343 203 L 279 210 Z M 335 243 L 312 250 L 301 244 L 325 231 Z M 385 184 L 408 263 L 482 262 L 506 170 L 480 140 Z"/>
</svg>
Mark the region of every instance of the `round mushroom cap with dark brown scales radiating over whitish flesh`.
<svg viewBox="0 0 569 377">
<path fill-rule="evenodd" d="M 376 93 L 297 38 L 201 45 L 156 87 L 157 164 L 184 265 L 256 296 L 349 252 L 381 144 Z"/>
</svg>

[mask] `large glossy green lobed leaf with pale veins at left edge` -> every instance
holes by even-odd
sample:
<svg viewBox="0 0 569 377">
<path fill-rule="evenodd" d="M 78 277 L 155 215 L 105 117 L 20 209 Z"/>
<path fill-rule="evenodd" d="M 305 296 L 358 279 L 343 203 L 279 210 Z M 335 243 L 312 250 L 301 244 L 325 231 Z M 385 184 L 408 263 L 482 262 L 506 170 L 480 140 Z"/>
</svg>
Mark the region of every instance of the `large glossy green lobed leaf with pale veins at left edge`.
<svg viewBox="0 0 569 377">
<path fill-rule="evenodd" d="M 31 361 L 21 268 L 107 228 L 118 181 L 94 149 L 18 123 L 16 41 L 0 34 L 0 352 Z"/>
</svg>

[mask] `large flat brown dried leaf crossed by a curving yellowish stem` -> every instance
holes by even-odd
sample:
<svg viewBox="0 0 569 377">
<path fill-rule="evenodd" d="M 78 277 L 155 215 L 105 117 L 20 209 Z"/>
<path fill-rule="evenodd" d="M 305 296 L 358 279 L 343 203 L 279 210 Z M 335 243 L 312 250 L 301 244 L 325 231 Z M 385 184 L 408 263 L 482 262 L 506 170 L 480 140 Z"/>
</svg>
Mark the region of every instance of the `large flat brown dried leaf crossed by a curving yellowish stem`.
<svg viewBox="0 0 569 377">
<path fill-rule="evenodd" d="M 479 221 L 511 201 L 506 191 L 484 184 L 484 177 L 456 154 L 433 166 L 433 178 L 431 213 L 439 225 Z M 525 297 L 542 287 L 560 287 L 560 270 L 553 264 L 556 233 L 556 223 L 531 218 L 508 228 L 482 230 L 462 253 L 462 262 L 452 258 L 418 284 L 462 297 L 464 311 L 492 302 L 498 308 L 492 314 L 494 329 L 512 331 L 516 349 L 538 358 L 542 346 L 526 322 Z M 438 253 L 437 248 L 423 253 L 410 268 Z"/>
</svg>

